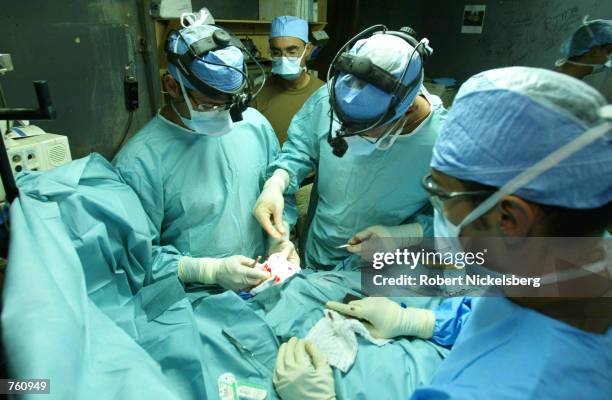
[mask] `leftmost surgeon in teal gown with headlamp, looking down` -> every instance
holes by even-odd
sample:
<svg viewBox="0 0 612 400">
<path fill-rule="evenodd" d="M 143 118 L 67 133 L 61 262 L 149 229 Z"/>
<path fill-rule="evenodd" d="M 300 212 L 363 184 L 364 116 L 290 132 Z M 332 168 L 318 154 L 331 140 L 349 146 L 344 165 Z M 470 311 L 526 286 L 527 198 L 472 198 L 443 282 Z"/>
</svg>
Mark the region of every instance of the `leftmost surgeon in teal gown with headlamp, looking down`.
<svg viewBox="0 0 612 400">
<path fill-rule="evenodd" d="M 172 258 L 184 283 L 242 289 L 268 277 L 252 268 L 255 257 L 281 245 L 269 245 L 251 215 L 279 144 L 256 110 L 247 108 L 237 122 L 230 115 L 246 85 L 239 48 L 207 51 L 186 66 L 188 74 L 177 66 L 173 55 L 186 54 L 203 39 L 218 39 L 218 30 L 200 23 L 171 34 L 169 73 L 163 78 L 168 102 L 114 164 L 159 231 L 157 257 Z M 183 256 L 158 247 L 169 245 Z"/>
</svg>

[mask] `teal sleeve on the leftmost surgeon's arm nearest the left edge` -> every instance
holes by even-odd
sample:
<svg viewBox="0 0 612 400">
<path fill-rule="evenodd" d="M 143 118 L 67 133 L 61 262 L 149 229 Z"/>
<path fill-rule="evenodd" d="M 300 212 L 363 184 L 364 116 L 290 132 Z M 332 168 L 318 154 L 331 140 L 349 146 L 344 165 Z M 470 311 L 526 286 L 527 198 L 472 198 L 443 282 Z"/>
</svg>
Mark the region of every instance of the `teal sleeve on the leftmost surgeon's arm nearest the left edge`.
<svg viewBox="0 0 612 400">
<path fill-rule="evenodd" d="M 151 222 L 152 236 L 151 268 L 147 271 L 145 285 L 178 273 L 178 261 L 181 253 L 170 245 L 161 245 L 161 225 L 164 218 L 164 192 L 161 167 L 151 167 L 140 157 L 131 157 L 129 153 L 119 153 L 113 160 L 121 178 L 136 192 Z M 158 164 L 161 165 L 161 164 Z"/>
</svg>

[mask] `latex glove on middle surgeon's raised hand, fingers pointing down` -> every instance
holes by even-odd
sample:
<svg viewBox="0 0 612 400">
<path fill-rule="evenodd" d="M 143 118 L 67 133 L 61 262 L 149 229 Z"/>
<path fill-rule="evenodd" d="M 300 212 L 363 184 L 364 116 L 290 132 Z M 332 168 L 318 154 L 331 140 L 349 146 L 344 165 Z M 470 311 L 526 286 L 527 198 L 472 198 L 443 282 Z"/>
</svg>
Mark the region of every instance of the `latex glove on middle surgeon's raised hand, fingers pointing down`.
<svg viewBox="0 0 612 400">
<path fill-rule="evenodd" d="M 268 235 L 274 239 L 281 240 L 285 232 L 283 223 L 283 209 L 285 198 L 283 193 L 289 185 L 289 174 L 284 169 L 277 169 L 266 181 L 264 187 L 253 208 L 253 215 L 259 221 Z"/>
</svg>

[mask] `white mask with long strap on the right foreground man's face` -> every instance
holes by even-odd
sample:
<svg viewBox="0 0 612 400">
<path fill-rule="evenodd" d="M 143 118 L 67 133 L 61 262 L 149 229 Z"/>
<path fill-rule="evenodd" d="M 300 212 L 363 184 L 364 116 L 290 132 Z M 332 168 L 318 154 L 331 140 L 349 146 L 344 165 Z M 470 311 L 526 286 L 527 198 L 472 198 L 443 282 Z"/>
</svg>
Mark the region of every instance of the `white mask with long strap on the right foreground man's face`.
<svg viewBox="0 0 612 400">
<path fill-rule="evenodd" d="M 437 222 L 436 219 L 434 219 L 435 235 L 444 235 L 445 238 L 449 238 L 449 246 L 453 249 L 453 251 L 463 251 L 463 246 L 461 245 L 461 242 L 459 240 L 459 237 L 461 236 L 461 229 L 463 227 L 471 224 L 478 218 L 485 215 L 487 212 L 489 212 L 489 210 L 495 207 L 503 197 L 515 193 L 525 184 L 529 183 L 531 180 L 553 168 L 561 161 L 570 157 L 572 154 L 577 153 L 584 147 L 593 143 L 597 139 L 604 137 L 605 135 L 610 136 L 610 132 L 612 132 L 612 105 L 602 107 L 600 110 L 600 114 L 604 119 L 606 119 L 605 122 L 591 129 L 588 129 L 586 132 L 578 136 L 573 141 L 553 151 L 544 159 L 538 161 L 537 163 L 517 175 L 515 178 L 508 181 L 505 185 L 503 185 L 495 193 L 493 193 L 490 197 L 488 197 L 485 201 L 483 201 L 482 203 L 480 203 L 480 205 L 473 209 L 459 224 L 455 225 L 451 221 L 449 221 L 449 219 L 444 213 L 444 209 L 441 203 L 434 204 L 439 215 L 437 218 Z M 435 215 L 436 214 L 434 214 L 434 218 Z M 589 273 L 589 270 L 582 271 L 583 275 L 587 275 Z M 551 274 L 547 274 L 546 276 L 542 277 L 542 282 L 553 283 L 561 282 L 562 280 L 574 279 L 576 278 L 575 274 L 576 271 L 571 271 L 570 273 L 567 273 L 567 277 L 571 277 L 566 277 L 566 279 L 563 279 L 565 275 L 562 273 L 554 273 L 554 277 L 548 276 Z"/>
</svg>

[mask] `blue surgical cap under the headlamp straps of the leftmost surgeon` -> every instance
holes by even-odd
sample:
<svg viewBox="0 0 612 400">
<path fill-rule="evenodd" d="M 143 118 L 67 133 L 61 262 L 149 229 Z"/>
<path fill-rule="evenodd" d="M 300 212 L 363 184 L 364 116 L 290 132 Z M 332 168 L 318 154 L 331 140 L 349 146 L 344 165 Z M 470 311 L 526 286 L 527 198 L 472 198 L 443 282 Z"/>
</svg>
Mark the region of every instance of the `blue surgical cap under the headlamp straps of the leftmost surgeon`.
<svg viewBox="0 0 612 400">
<path fill-rule="evenodd" d="M 213 25 L 190 26 L 181 29 L 181 34 L 188 44 L 192 44 L 204 37 L 211 36 L 212 32 L 217 29 L 220 28 Z M 178 34 L 174 33 L 169 39 L 168 51 L 184 54 L 187 51 L 187 45 Z M 210 51 L 202 58 L 216 64 L 231 65 L 232 67 L 243 69 L 244 57 L 242 51 L 234 46 Z M 194 60 L 191 63 L 191 71 L 208 85 L 226 92 L 233 92 L 240 88 L 244 79 L 243 75 L 235 69 L 208 64 L 200 60 Z M 179 71 L 171 63 L 168 63 L 168 72 L 170 72 L 174 79 L 178 80 Z M 182 81 L 185 87 L 197 90 L 184 76 L 182 76 Z"/>
</svg>

